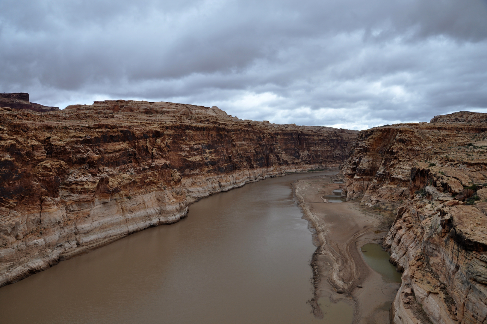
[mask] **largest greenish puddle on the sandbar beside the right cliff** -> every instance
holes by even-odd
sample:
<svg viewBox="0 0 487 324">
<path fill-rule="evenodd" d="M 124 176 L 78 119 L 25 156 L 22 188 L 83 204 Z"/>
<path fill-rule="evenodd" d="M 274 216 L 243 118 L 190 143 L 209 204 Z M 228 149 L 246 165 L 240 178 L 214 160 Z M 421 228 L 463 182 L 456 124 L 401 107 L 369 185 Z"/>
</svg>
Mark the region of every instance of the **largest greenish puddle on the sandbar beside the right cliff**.
<svg viewBox="0 0 487 324">
<path fill-rule="evenodd" d="M 388 283 L 400 283 L 401 273 L 389 262 L 389 253 L 380 244 L 369 243 L 361 247 L 362 256 L 367 264 L 380 273 Z"/>
</svg>

